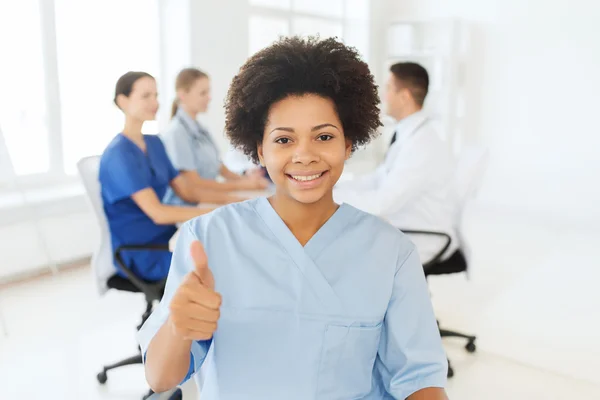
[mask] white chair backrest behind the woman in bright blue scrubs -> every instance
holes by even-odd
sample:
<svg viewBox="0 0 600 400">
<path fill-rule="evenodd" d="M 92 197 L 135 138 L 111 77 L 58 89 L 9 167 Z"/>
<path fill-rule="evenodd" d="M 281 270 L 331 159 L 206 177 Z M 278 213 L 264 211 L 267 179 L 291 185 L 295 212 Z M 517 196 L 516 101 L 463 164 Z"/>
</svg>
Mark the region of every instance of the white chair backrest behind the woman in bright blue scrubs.
<svg viewBox="0 0 600 400">
<path fill-rule="evenodd" d="M 77 170 L 85 187 L 88 200 L 94 210 L 94 215 L 100 228 L 100 243 L 92 256 L 92 271 L 96 286 L 100 294 L 108 290 L 106 282 L 115 274 L 116 268 L 113 261 L 113 251 L 110 240 L 108 221 L 104 213 L 102 196 L 100 193 L 100 182 L 98 171 L 100 169 L 100 157 L 90 156 L 79 160 Z"/>
</svg>

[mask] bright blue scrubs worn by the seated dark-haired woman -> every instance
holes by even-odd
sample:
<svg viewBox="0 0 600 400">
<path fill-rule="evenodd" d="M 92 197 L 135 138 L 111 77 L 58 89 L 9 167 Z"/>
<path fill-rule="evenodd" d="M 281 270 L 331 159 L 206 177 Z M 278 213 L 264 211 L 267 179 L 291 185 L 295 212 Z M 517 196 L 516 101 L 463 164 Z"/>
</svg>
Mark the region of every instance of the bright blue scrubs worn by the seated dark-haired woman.
<svg viewBox="0 0 600 400">
<path fill-rule="evenodd" d="M 100 159 L 98 179 L 108 219 L 113 251 L 122 245 L 168 244 L 177 228 L 155 224 L 131 196 L 152 188 L 162 198 L 178 175 L 158 136 L 144 135 L 146 153 L 123 134 L 117 135 Z M 169 272 L 168 251 L 126 251 L 125 263 L 148 281 L 164 279 Z M 115 262 L 117 273 L 125 276 Z"/>
</svg>

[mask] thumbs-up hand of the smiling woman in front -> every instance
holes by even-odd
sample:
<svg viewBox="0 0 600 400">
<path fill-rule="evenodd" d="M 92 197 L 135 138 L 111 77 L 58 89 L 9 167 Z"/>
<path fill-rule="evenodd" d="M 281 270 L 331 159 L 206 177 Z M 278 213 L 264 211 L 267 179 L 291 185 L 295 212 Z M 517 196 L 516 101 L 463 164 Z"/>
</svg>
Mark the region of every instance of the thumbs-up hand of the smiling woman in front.
<svg viewBox="0 0 600 400">
<path fill-rule="evenodd" d="M 190 252 L 194 269 L 185 276 L 171 300 L 169 323 L 182 339 L 208 340 L 217 329 L 221 295 L 215 292 L 215 279 L 202 244 L 193 242 Z"/>
</svg>

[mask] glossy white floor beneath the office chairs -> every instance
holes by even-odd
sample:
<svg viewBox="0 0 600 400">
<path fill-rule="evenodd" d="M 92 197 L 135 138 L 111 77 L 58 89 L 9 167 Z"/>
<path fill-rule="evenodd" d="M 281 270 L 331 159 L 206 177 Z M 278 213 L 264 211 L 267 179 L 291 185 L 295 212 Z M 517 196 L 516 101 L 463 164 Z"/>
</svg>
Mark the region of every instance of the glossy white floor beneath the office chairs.
<svg viewBox="0 0 600 400">
<path fill-rule="evenodd" d="M 475 213 L 471 281 L 431 281 L 444 327 L 478 335 L 479 350 L 447 341 L 451 399 L 600 399 L 600 235 Z M 103 364 L 135 354 L 143 299 L 98 298 L 90 271 L 62 272 L 0 292 L 0 398 L 140 399 L 141 366 Z M 196 399 L 193 387 L 184 398 Z"/>
</svg>

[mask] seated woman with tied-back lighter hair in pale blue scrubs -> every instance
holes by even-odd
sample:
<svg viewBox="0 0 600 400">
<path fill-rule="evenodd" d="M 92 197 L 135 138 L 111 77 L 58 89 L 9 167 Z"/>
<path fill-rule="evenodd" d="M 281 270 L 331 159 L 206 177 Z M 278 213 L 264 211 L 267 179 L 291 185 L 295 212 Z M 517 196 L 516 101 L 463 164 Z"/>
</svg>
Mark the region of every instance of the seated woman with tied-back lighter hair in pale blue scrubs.
<svg viewBox="0 0 600 400">
<path fill-rule="evenodd" d="M 232 190 L 265 189 L 268 181 L 255 170 L 238 175 L 221 161 L 219 149 L 210 133 L 196 120 L 206 112 L 210 102 L 208 75 L 195 68 L 182 70 L 175 81 L 177 99 L 173 102 L 172 119 L 161 133 L 161 139 L 173 165 L 196 187 L 221 193 L 219 203 L 230 203 Z M 225 182 L 218 182 L 222 176 Z M 216 195 L 218 196 L 218 195 Z M 180 196 L 169 189 L 164 201 L 185 204 Z"/>
</svg>

